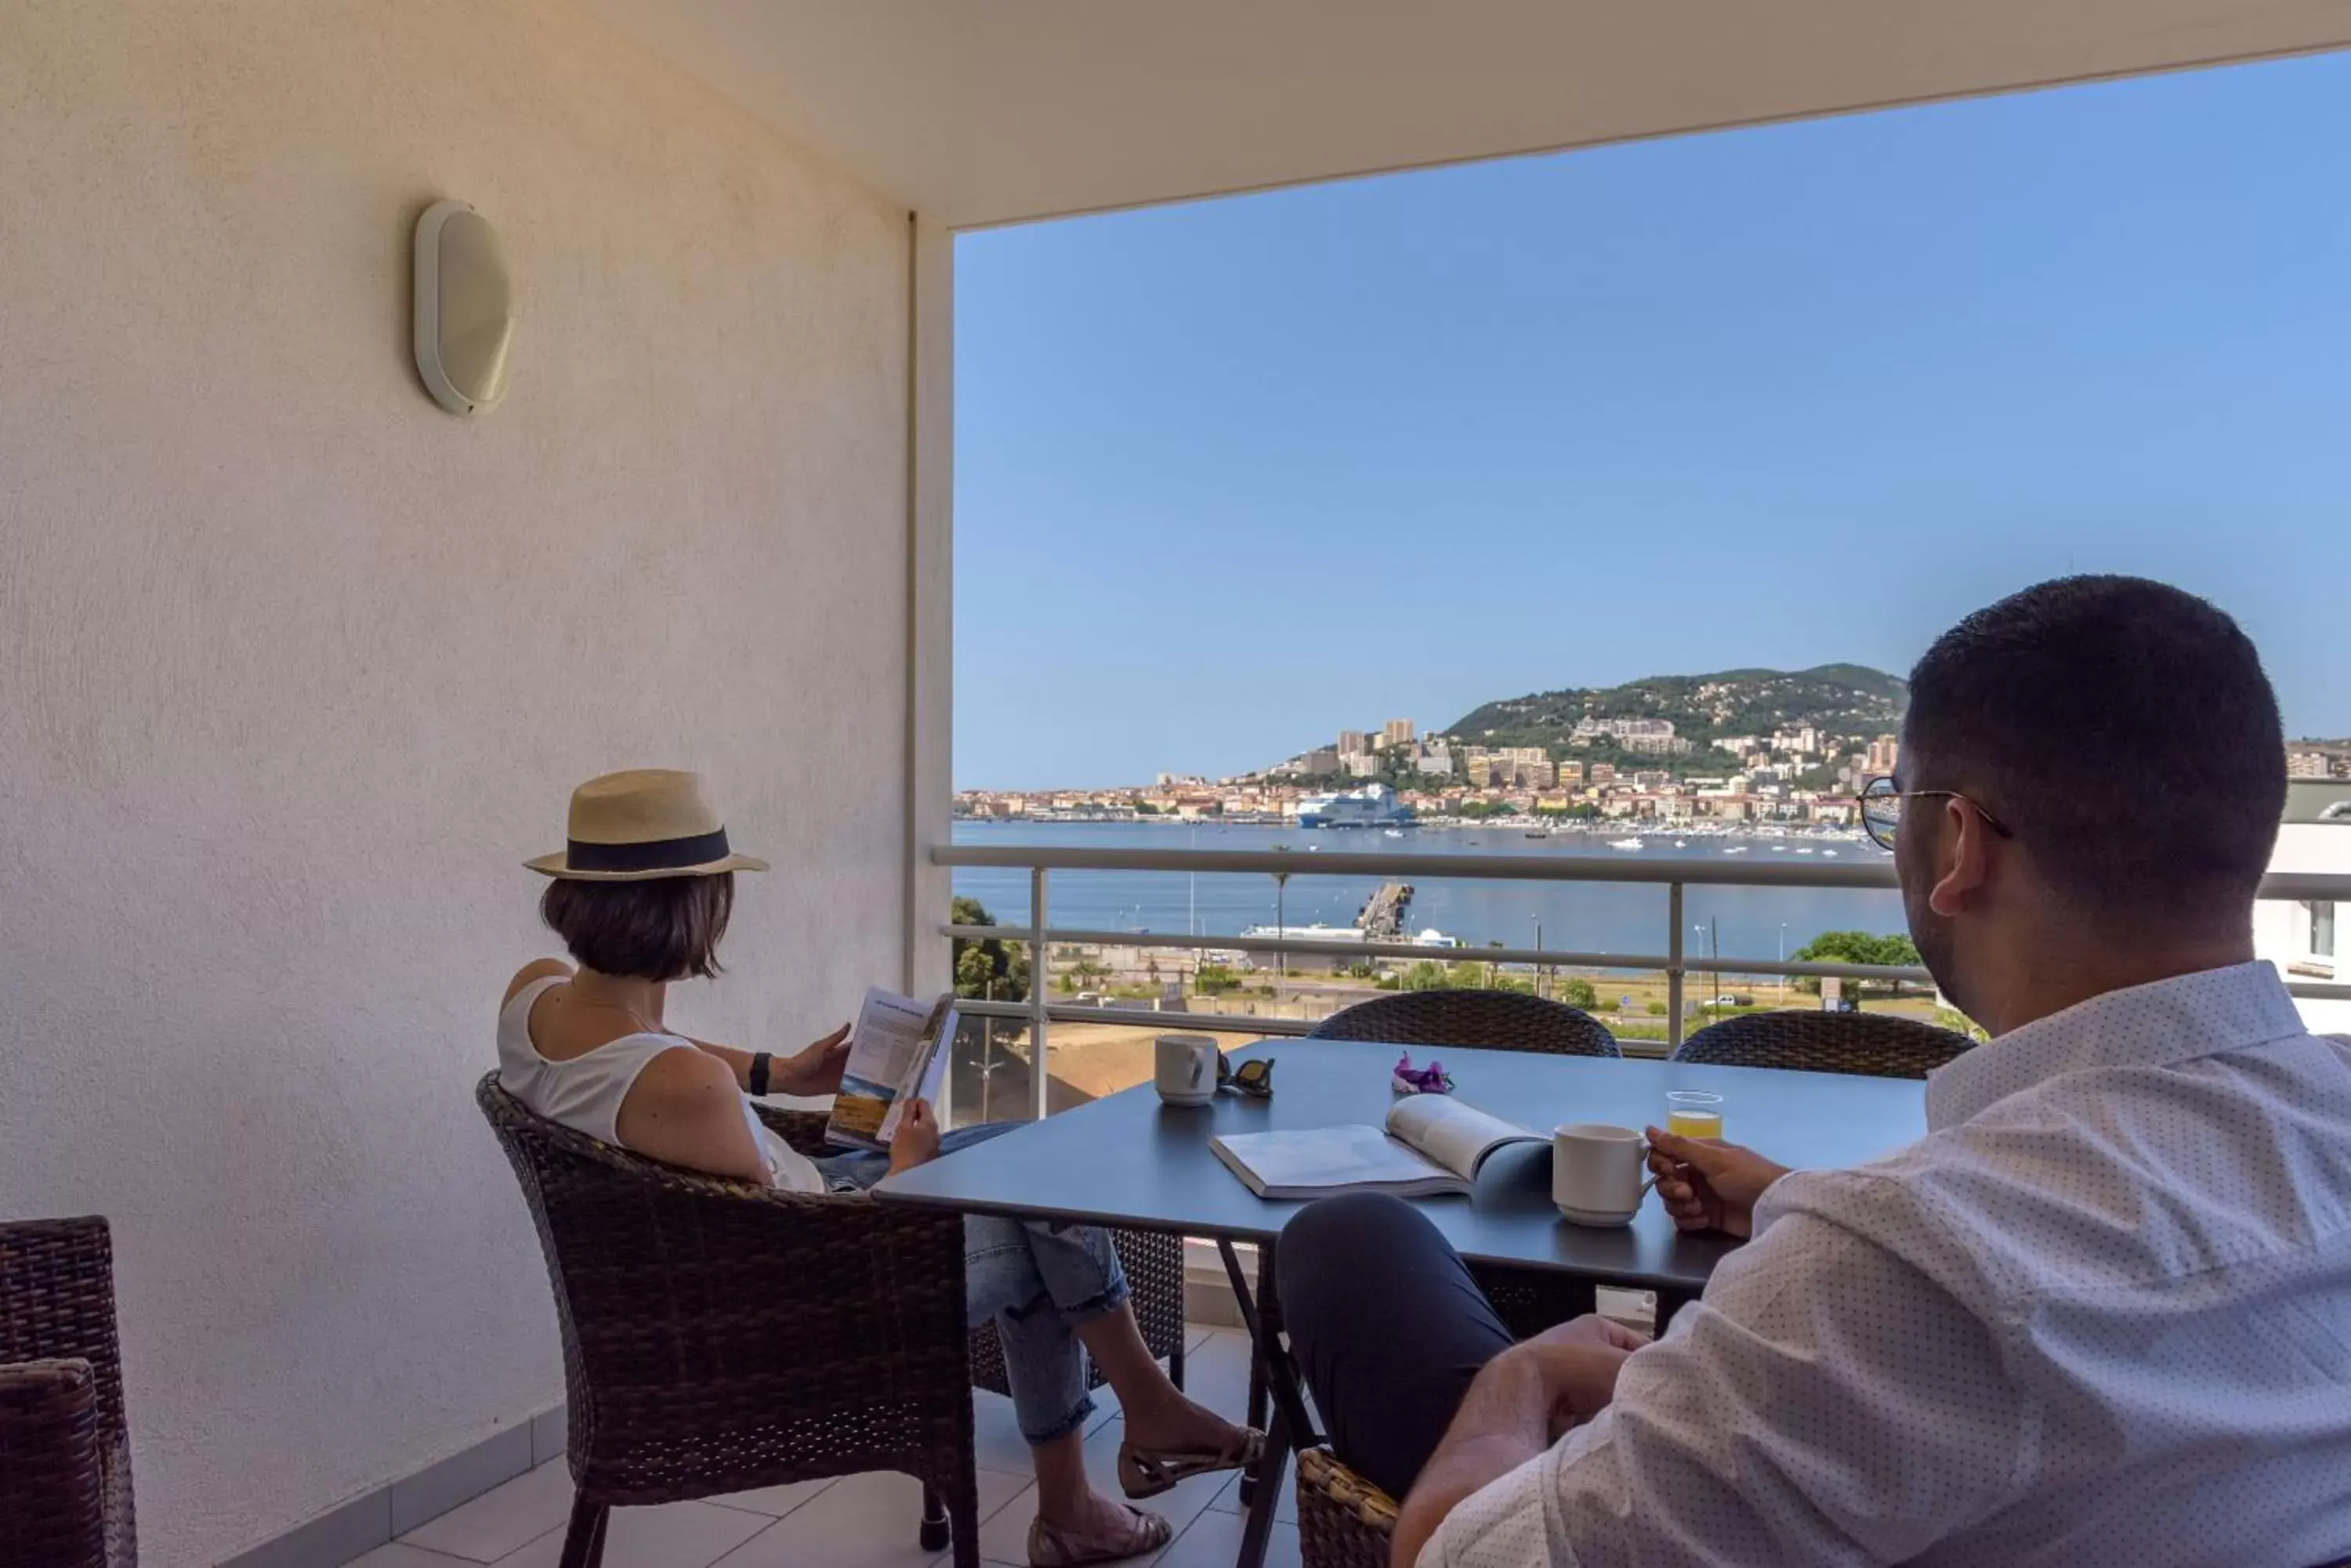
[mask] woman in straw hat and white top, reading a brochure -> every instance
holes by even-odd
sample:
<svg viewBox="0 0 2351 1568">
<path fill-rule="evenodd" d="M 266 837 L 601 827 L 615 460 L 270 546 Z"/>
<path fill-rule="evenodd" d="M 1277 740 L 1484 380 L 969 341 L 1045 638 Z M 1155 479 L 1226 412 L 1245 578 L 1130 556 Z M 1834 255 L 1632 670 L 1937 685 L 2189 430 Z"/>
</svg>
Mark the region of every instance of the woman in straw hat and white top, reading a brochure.
<svg viewBox="0 0 2351 1568">
<path fill-rule="evenodd" d="M 940 1133 L 931 1107 L 915 1100 L 886 1161 L 865 1152 L 806 1159 L 759 1121 L 750 1095 L 837 1091 L 846 1025 L 785 1058 L 665 1027 L 670 980 L 719 973 L 734 875 L 766 870 L 734 851 L 694 773 L 590 778 L 571 792 L 569 844 L 529 867 L 550 877 L 538 907 L 576 964 L 527 964 L 498 1013 L 498 1081 L 536 1114 L 649 1159 L 792 1192 L 870 1187 L 943 1147 L 1009 1131 Z M 1027 1542 L 1037 1568 L 1157 1552 L 1171 1537 L 1166 1519 L 1086 1481 L 1081 1443 L 1093 1401 L 1079 1347 L 1093 1354 L 1126 1415 L 1119 1486 L 1128 1497 L 1255 1460 L 1255 1432 L 1192 1403 L 1159 1371 L 1105 1232 L 971 1218 L 964 1274 L 973 1324 L 997 1319 L 1013 1408 L 1037 1465 Z"/>
</svg>

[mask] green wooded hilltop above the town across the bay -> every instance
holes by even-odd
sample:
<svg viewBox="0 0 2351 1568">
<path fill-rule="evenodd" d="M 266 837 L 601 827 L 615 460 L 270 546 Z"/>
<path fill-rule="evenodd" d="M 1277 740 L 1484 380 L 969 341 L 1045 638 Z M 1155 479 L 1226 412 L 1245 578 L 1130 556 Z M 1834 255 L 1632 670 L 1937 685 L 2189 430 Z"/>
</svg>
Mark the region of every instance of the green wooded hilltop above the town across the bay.
<svg viewBox="0 0 2351 1568">
<path fill-rule="evenodd" d="M 1474 745 L 1566 745 L 1592 717 L 1672 719 L 1674 733 L 1697 745 L 1808 724 L 1831 736 L 1881 736 L 1900 729 L 1907 703 L 1902 677 L 1867 665 L 1719 670 L 1514 696 L 1474 708 L 1444 733 Z"/>
</svg>

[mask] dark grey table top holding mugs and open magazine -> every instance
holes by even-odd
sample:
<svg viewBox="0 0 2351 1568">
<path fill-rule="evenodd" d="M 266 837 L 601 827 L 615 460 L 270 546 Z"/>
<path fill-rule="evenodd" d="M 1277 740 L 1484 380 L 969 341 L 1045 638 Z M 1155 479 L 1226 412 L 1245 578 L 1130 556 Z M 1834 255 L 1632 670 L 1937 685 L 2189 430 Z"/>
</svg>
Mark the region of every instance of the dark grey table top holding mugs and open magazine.
<svg viewBox="0 0 2351 1568">
<path fill-rule="evenodd" d="M 940 1157 L 875 1187 L 886 1204 L 1089 1220 L 1187 1237 L 1267 1241 L 1300 1204 L 1260 1199 L 1208 1147 L 1218 1133 L 1378 1126 L 1392 1103 L 1396 1046 L 1279 1039 L 1234 1051 L 1277 1058 L 1274 1098 L 1218 1095 L 1206 1107 L 1161 1105 L 1143 1084 Z M 1429 1051 L 1415 1051 L 1425 1065 Z M 1434 1051 L 1455 1095 L 1547 1133 L 1563 1121 L 1662 1126 L 1669 1088 L 1723 1095 L 1723 1133 L 1787 1166 L 1855 1166 L 1925 1131 L 1925 1084 L 1773 1067 L 1712 1067 L 1521 1051 Z M 1552 1206 L 1549 1145 L 1514 1145 L 1479 1171 L 1469 1199 L 1420 1199 L 1472 1260 L 1585 1274 L 1603 1284 L 1697 1291 L 1730 1248 L 1683 1237 L 1650 1199 L 1620 1229 L 1570 1225 Z"/>
</svg>

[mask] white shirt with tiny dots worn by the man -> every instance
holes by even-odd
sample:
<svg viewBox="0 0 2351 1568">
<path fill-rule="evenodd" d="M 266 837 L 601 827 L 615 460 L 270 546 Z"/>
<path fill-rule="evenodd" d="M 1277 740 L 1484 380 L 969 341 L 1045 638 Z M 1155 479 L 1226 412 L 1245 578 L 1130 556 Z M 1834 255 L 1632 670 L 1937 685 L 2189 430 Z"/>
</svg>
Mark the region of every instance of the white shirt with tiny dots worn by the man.
<svg viewBox="0 0 2351 1568">
<path fill-rule="evenodd" d="M 1925 1110 L 1775 1182 L 1615 1406 L 1420 1566 L 2351 1554 L 2351 1044 L 2241 964 L 2003 1034 Z"/>
</svg>

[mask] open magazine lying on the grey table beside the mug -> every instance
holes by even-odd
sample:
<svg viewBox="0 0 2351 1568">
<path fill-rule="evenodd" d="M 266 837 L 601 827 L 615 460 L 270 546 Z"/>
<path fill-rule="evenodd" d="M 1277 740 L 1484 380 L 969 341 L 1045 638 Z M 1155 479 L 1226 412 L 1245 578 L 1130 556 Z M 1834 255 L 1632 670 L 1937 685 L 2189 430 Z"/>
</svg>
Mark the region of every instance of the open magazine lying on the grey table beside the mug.
<svg viewBox="0 0 2351 1568">
<path fill-rule="evenodd" d="M 1512 1143 L 1542 1143 L 1451 1095 L 1406 1095 L 1387 1126 L 1317 1126 L 1211 1138 L 1215 1157 L 1260 1199 L 1319 1199 L 1333 1192 L 1392 1192 L 1399 1199 L 1467 1194 L 1479 1166 Z"/>
</svg>

